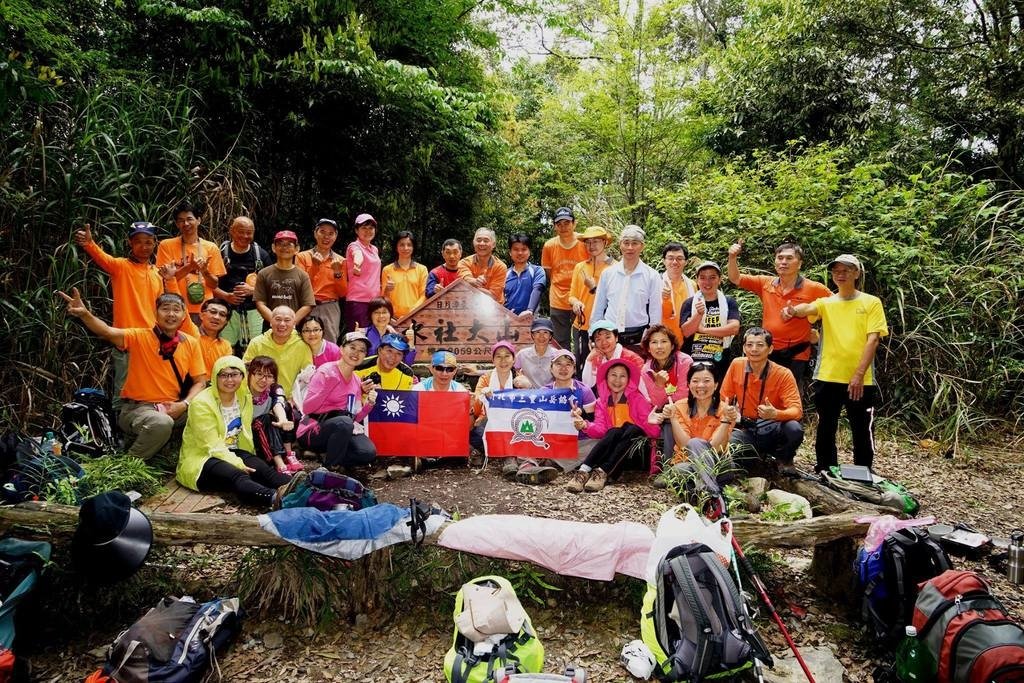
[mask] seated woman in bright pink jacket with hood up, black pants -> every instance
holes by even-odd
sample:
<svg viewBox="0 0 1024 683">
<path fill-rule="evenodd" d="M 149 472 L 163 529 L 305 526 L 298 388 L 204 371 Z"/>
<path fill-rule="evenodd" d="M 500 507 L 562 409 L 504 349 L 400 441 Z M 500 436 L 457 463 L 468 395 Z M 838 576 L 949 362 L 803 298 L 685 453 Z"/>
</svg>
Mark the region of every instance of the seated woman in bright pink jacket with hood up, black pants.
<svg viewBox="0 0 1024 683">
<path fill-rule="evenodd" d="M 566 485 L 570 494 L 601 490 L 609 476 L 618 476 L 627 458 L 649 453 L 647 439 L 657 436 L 658 427 L 647 421 L 651 404 L 640 393 L 639 375 L 628 360 L 608 360 L 597 371 L 594 421 L 584 420 L 579 405 L 572 409 L 575 428 L 599 440 Z"/>
</svg>

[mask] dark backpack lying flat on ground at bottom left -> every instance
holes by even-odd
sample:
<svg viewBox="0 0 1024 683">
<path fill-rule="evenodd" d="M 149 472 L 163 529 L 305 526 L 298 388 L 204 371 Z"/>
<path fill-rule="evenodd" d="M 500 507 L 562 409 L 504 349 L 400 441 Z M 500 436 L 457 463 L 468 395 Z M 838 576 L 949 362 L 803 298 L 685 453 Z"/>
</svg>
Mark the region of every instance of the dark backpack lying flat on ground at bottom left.
<svg viewBox="0 0 1024 683">
<path fill-rule="evenodd" d="M 187 683 L 217 667 L 241 630 L 238 598 L 197 603 L 168 597 L 114 640 L 106 664 L 86 683 Z"/>
</svg>

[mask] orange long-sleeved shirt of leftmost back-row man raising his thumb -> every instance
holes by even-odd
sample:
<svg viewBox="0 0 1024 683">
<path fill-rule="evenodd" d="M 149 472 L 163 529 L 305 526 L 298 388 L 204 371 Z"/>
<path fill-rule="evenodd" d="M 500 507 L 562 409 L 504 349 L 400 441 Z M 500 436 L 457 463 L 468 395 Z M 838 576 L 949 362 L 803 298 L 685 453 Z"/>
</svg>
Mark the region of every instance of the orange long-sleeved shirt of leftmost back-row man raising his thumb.
<svg viewBox="0 0 1024 683">
<path fill-rule="evenodd" d="M 85 245 L 85 253 L 111 276 L 114 327 L 128 330 L 156 325 L 157 297 L 164 293 L 164 279 L 156 266 L 111 256 L 95 242 Z"/>
</svg>

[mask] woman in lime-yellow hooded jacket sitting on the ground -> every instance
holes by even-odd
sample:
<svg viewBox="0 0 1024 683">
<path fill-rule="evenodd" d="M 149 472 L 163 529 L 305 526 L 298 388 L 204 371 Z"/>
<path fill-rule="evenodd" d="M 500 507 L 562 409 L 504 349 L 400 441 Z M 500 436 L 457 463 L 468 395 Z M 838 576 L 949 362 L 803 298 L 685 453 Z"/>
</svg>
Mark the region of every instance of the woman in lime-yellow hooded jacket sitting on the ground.
<svg viewBox="0 0 1024 683">
<path fill-rule="evenodd" d="M 246 367 L 233 355 L 217 358 L 214 383 L 203 389 L 188 408 L 175 478 L 199 492 L 229 490 L 243 503 L 263 509 L 280 507 L 289 489 L 305 472 L 289 476 L 253 455 L 253 403 Z"/>
</svg>

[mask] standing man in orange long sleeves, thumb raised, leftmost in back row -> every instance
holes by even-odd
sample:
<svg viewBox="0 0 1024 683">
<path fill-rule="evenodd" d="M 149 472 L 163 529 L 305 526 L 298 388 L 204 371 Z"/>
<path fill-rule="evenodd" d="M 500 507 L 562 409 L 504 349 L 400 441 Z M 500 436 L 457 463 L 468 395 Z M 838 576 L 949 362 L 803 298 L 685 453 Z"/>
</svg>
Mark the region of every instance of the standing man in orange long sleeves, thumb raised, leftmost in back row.
<svg viewBox="0 0 1024 683">
<path fill-rule="evenodd" d="M 111 256 L 92 239 L 88 223 L 75 231 L 75 244 L 85 250 L 96 265 L 111 276 L 114 300 L 114 327 L 152 328 L 156 324 L 153 302 L 164 293 L 165 287 L 177 290 L 174 266 L 162 268 L 153 265 L 157 251 L 157 226 L 146 221 L 136 221 L 128 230 L 128 256 Z M 128 377 L 128 354 L 115 348 L 111 354 L 114 365 L 114 392 L 112 404 L 121 409 L 121 388 Z"/>
</svg>

